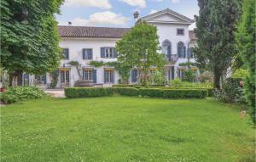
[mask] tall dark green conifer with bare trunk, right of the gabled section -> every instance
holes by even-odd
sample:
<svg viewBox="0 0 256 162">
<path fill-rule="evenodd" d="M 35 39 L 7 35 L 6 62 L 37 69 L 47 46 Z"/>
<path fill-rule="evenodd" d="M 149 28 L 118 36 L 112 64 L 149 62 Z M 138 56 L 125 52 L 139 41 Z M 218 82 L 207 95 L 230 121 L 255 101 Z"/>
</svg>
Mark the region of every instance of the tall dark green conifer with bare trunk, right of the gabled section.
<svg viewBox="0 0 256 162">
<path fill-rule="evenodd" d="M 195 16 L 197 46 L 195 59 L 200 68 L 212 70 L 214 87 L 231 66 L 236 55 L 236 23 L 241 15 L 239 0 L 198 0 L 199 16 Z"/>
</svg>

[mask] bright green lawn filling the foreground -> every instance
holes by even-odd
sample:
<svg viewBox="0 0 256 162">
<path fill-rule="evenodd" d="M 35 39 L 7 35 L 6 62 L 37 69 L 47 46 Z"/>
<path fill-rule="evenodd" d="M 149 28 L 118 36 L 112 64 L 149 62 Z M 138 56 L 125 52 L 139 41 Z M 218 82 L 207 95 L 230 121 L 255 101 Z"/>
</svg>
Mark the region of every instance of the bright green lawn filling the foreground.
<svg viewBox="0 0 256 162">
<path fill-rule="evenodd" d="M 1 108 L 1 162 L 253 161 L 248 121 L 211 98 L 44 98 Z"/>
</svg>

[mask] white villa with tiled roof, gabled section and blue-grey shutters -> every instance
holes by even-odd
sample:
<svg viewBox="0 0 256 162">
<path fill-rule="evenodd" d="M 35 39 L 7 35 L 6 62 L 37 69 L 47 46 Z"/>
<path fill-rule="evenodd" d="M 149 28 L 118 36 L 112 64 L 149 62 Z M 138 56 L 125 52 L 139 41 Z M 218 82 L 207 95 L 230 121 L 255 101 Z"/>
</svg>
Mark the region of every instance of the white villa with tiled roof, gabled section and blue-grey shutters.
<svg viewBox="0 0 256 162">
<path fill-rule="evenodd" d="M 137 14 L 137 13 L 136 13 Z M 166 80 L 171 81 L 174 78 L 183 79 L 183 70 L 186 66 L 181 63 L 195 62 L 193 53 L 190 53 L 189 47 L 195 46 L 195 35 L 189 31 L 189 25 L 194 20 L 177 14 L 169 8 L 160 12 L 149 14 L 139 18 L 140 21 L 146 21 L 158 29 L 161 53 L 166 54 L 168 64 L 165 66 Z M 130 28 L 109 28 L 109 27 L 88 27 L 88 26 L 59 26 L 61 36 L 60 47 L 63 48 L 64 59 L 58 69 L 57 87 L 73 87 L 75 81 L 79 80 L 79 75 L 75 67 L 68 64 L 69 61 L 78 61 L 83 71 L 85 81 L 93 81 L 96 85 L 105 87 L 118 84 L 120 79 L 118 71 L 113 67 L 102 66 L 94 67 L 90 61 L 116 61 L 117 54 L 115 43 L 119 41 Z M 152 68 L 154 70 L 154 68 Z M 195 73 L 199 73 L 196 67 L 193 67 Z M 43 87 L 49 87 L 52 81 L 52 75 L 24 75 L 24 81 L 29 84 L 39 84 Z M 130 83 L 137 82 L 137 70 L 131 70 Z"/>
</svg>

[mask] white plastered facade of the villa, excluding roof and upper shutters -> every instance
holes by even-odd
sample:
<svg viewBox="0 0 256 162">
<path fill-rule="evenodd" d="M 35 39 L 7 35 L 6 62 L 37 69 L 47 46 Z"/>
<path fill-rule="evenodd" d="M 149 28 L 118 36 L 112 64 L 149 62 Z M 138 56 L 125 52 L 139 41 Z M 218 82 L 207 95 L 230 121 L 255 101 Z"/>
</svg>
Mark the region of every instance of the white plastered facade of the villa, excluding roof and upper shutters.
<svg viewBox="0 0 256 162">
<path fill-rule="evenodd" d="M 157 27 L 157 34 L 159 36 L 160 46 L 163 46 L 163 43 L 171 42 L 171 57 L 175 61 L 169 61 L 166 64 L 166 80 L 171 81 L 174 78 L 181 77 L 179 70 L 183 70 L 184 67 L 180 67 L 180 63 L 188 62 L 188 48 L 193 43 L 189 40 L 189 25 L 193 23 L 193 20 L 189 20 L 180 14 L 173 12 L 170 9 L 165 9 L 155 14 L 150 14 L 139 19 L 137 22 L 144 20 L 148 24 L 154 25 Z M 181 32 L 178 34 L 178 31 Z M 61 37 L 60 47 L 68 49 L 68 59 L 62 59 L 59 67 L 59 78 L 57 87 L 73 87 L 75 82 L 79 80 L 79 74 L 75 67 L 68 64 L 69 61 L 78 61 L 81 64 L 81 70 L 96 70 L 96 85 L 102 85 L 105 87 L 111 86 L 113 84 L 118 84 L 119 74 L 117 70 L 113 70 L 113 67 L 93 67 L 90 65 L 90 61 L 103 61 L 111 62 L 116 61 L 116 58 L 106 59 L 101 57 L 101 47 L 115 47 L 115 43 L 121 38 L 93 38 L 93 37 Z M 186 56 L 178 58 L 177 44 L 179 42 L 183 43 L 183 46 L 186 49 Z M 189 44 L 190 43 L 190 44 Z M 83 59 L 83 49 L 89 48 L 92 49 L 92 59 L 84 60 Z M 162 50 L 164 48 L 162 47 Z M 170 53 L 169 52 L 169 53 Z M 189 59 L 191 62 L 195 62 L 194 59 Z M 62 70 L 62 73 L 61 73 Z M 106 82 L 106 74 L 104 70 L 113 70 L 113 81 Z M 63 71 L 68 71 L 63 72 Z M 65 75 L 65 76 L 64 76 Z M 109 76 L 108 75 L 108 76 Z M 61 78 L 62 77 L 62 78 Z M 84 76 L 83 76 L 84 77 Z M 94 76 L 95 77 L 95 76 Z M 64 80 L 68 79 L 65 83 Z M 51 82 L 51 76 L 46 75 L 46 81 L 44 84 L 49 85 Z M 61 83 L 62 82 L 62 83 Z M 131 78 L 130 78 L 130 82 Z M 49 87 L 49 86 L 48 86 Z"/>
</svg>

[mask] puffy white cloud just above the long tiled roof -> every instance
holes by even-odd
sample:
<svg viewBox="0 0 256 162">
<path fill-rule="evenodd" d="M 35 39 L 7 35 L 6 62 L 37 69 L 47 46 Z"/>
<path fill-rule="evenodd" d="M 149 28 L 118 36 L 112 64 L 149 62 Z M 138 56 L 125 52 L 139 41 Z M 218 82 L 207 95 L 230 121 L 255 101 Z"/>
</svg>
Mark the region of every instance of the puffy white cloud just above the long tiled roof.
<svg viewBox="0 0 256 162">
<path fill-rule="evenodd" d="M 127 25 L 129 19 L 121 14 L 111 11 L 90 14 L 89 19 L 75 18 L 71 20 L 72 25 Z"/>
</svg>

